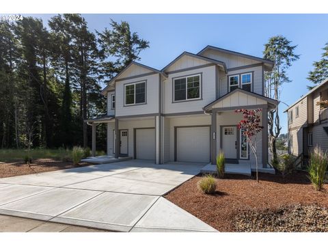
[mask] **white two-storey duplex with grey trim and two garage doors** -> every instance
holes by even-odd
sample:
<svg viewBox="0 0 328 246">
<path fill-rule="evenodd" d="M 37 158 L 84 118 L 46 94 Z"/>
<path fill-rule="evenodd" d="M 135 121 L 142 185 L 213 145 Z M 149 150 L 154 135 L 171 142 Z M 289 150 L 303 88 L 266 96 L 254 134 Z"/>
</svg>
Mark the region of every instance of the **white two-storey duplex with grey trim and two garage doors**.
<svg viewBox="0 0 328 246">
<path fill-rule="evenodd" d="M 158 57 L 160 59 L 160 57 Z M 107 115 L 87 120 L 93 129 L 107 124 L 107 154 L 153 160 L 215 163 L 220 149 L 228 163 L 255 158 L 236 125 L 235 109 L 262 109 L 264 129 L 258 135 L 262 172 L 268 165 L 267 113 L 277 101 L 264 96 L 264 71 L 273 61 L 206 46 L 184 52 L 162 70 L 133 61 L 115 76 L 102 94 Z"/>
</svg>

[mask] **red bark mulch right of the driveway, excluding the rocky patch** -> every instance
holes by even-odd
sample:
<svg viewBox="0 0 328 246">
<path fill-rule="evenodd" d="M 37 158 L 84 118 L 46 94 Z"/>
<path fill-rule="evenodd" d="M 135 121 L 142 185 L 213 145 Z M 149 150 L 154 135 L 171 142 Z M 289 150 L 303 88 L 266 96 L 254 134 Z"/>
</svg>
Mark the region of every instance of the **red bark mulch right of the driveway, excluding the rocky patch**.
<svg viewBox="0 0 328 246">
<path fill-rule="evenodd" d="M 197 189 L 200 178 L 192 178 L 165 197 L 220 232 L 241 231 L 236 228 L 235 218 L 247 211 L 274 212 L 298 204 L 328 208 L 328 184 L 323 191 L 315 191 L 303 172 L 286 178 L 259 174 L 260 182 L 246 176 L 226 175 L 217 179 L 214 195 Z"/>
</svg>

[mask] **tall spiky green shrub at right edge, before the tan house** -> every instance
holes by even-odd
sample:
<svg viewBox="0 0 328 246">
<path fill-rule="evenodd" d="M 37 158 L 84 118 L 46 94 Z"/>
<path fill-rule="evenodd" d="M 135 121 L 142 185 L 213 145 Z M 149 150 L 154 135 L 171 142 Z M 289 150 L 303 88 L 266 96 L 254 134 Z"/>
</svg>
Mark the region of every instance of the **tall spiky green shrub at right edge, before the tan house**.
<svg viewBox="0 0 328 246">
<path fill-rule="evenodd" d="M 308 166 L 309 178 L 317 191 L 323 189 L 326 179 L 326 170 L 328 165 L 328 154 L 319 147 L 314 148 L 310 154 Z"/>
</svg>

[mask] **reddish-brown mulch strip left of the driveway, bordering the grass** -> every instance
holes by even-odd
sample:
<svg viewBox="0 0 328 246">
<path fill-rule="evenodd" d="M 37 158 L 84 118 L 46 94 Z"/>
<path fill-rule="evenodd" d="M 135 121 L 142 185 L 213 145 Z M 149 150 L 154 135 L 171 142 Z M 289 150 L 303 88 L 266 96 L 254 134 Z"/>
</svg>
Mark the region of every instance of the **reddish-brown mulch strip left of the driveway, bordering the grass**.
<svg viewBox="0 0 328 246">
<path fill-rule="evenodd" d="M 40 172 L 50 172 L 59 169 L 68 169 L 73 167 L 83 167 L 94 165 L 90 163 L 81 163 L 73 165 L 72 162 L 55 161 L 53 159 L 36 159 L 33 160 L 30 167 L 22 162 L 1 163 L 0 162 L 0 178 L 20 176 L 25 174 L 38 174 Z"/>
</svg>

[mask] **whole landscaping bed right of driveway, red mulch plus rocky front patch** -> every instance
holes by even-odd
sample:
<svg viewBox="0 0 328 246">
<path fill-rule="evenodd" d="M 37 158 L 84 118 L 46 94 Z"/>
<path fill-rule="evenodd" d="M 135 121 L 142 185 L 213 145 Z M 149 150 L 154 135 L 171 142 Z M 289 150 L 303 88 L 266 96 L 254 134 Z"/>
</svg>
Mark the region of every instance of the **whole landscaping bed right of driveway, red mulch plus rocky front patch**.
<svg viewBox="0 0 328 246">
<path fill-rule="evenodd" d="M 315 191 L 304 172 L 286 178 L 259 174 L 260 182 L 227 174 L 217 179 L 214 195 L 197 189 L 200 178 L 165 197 L 220 232 L 328 231 L 323 225 L 328 219 L 328 185 Z"/>
</svg>

